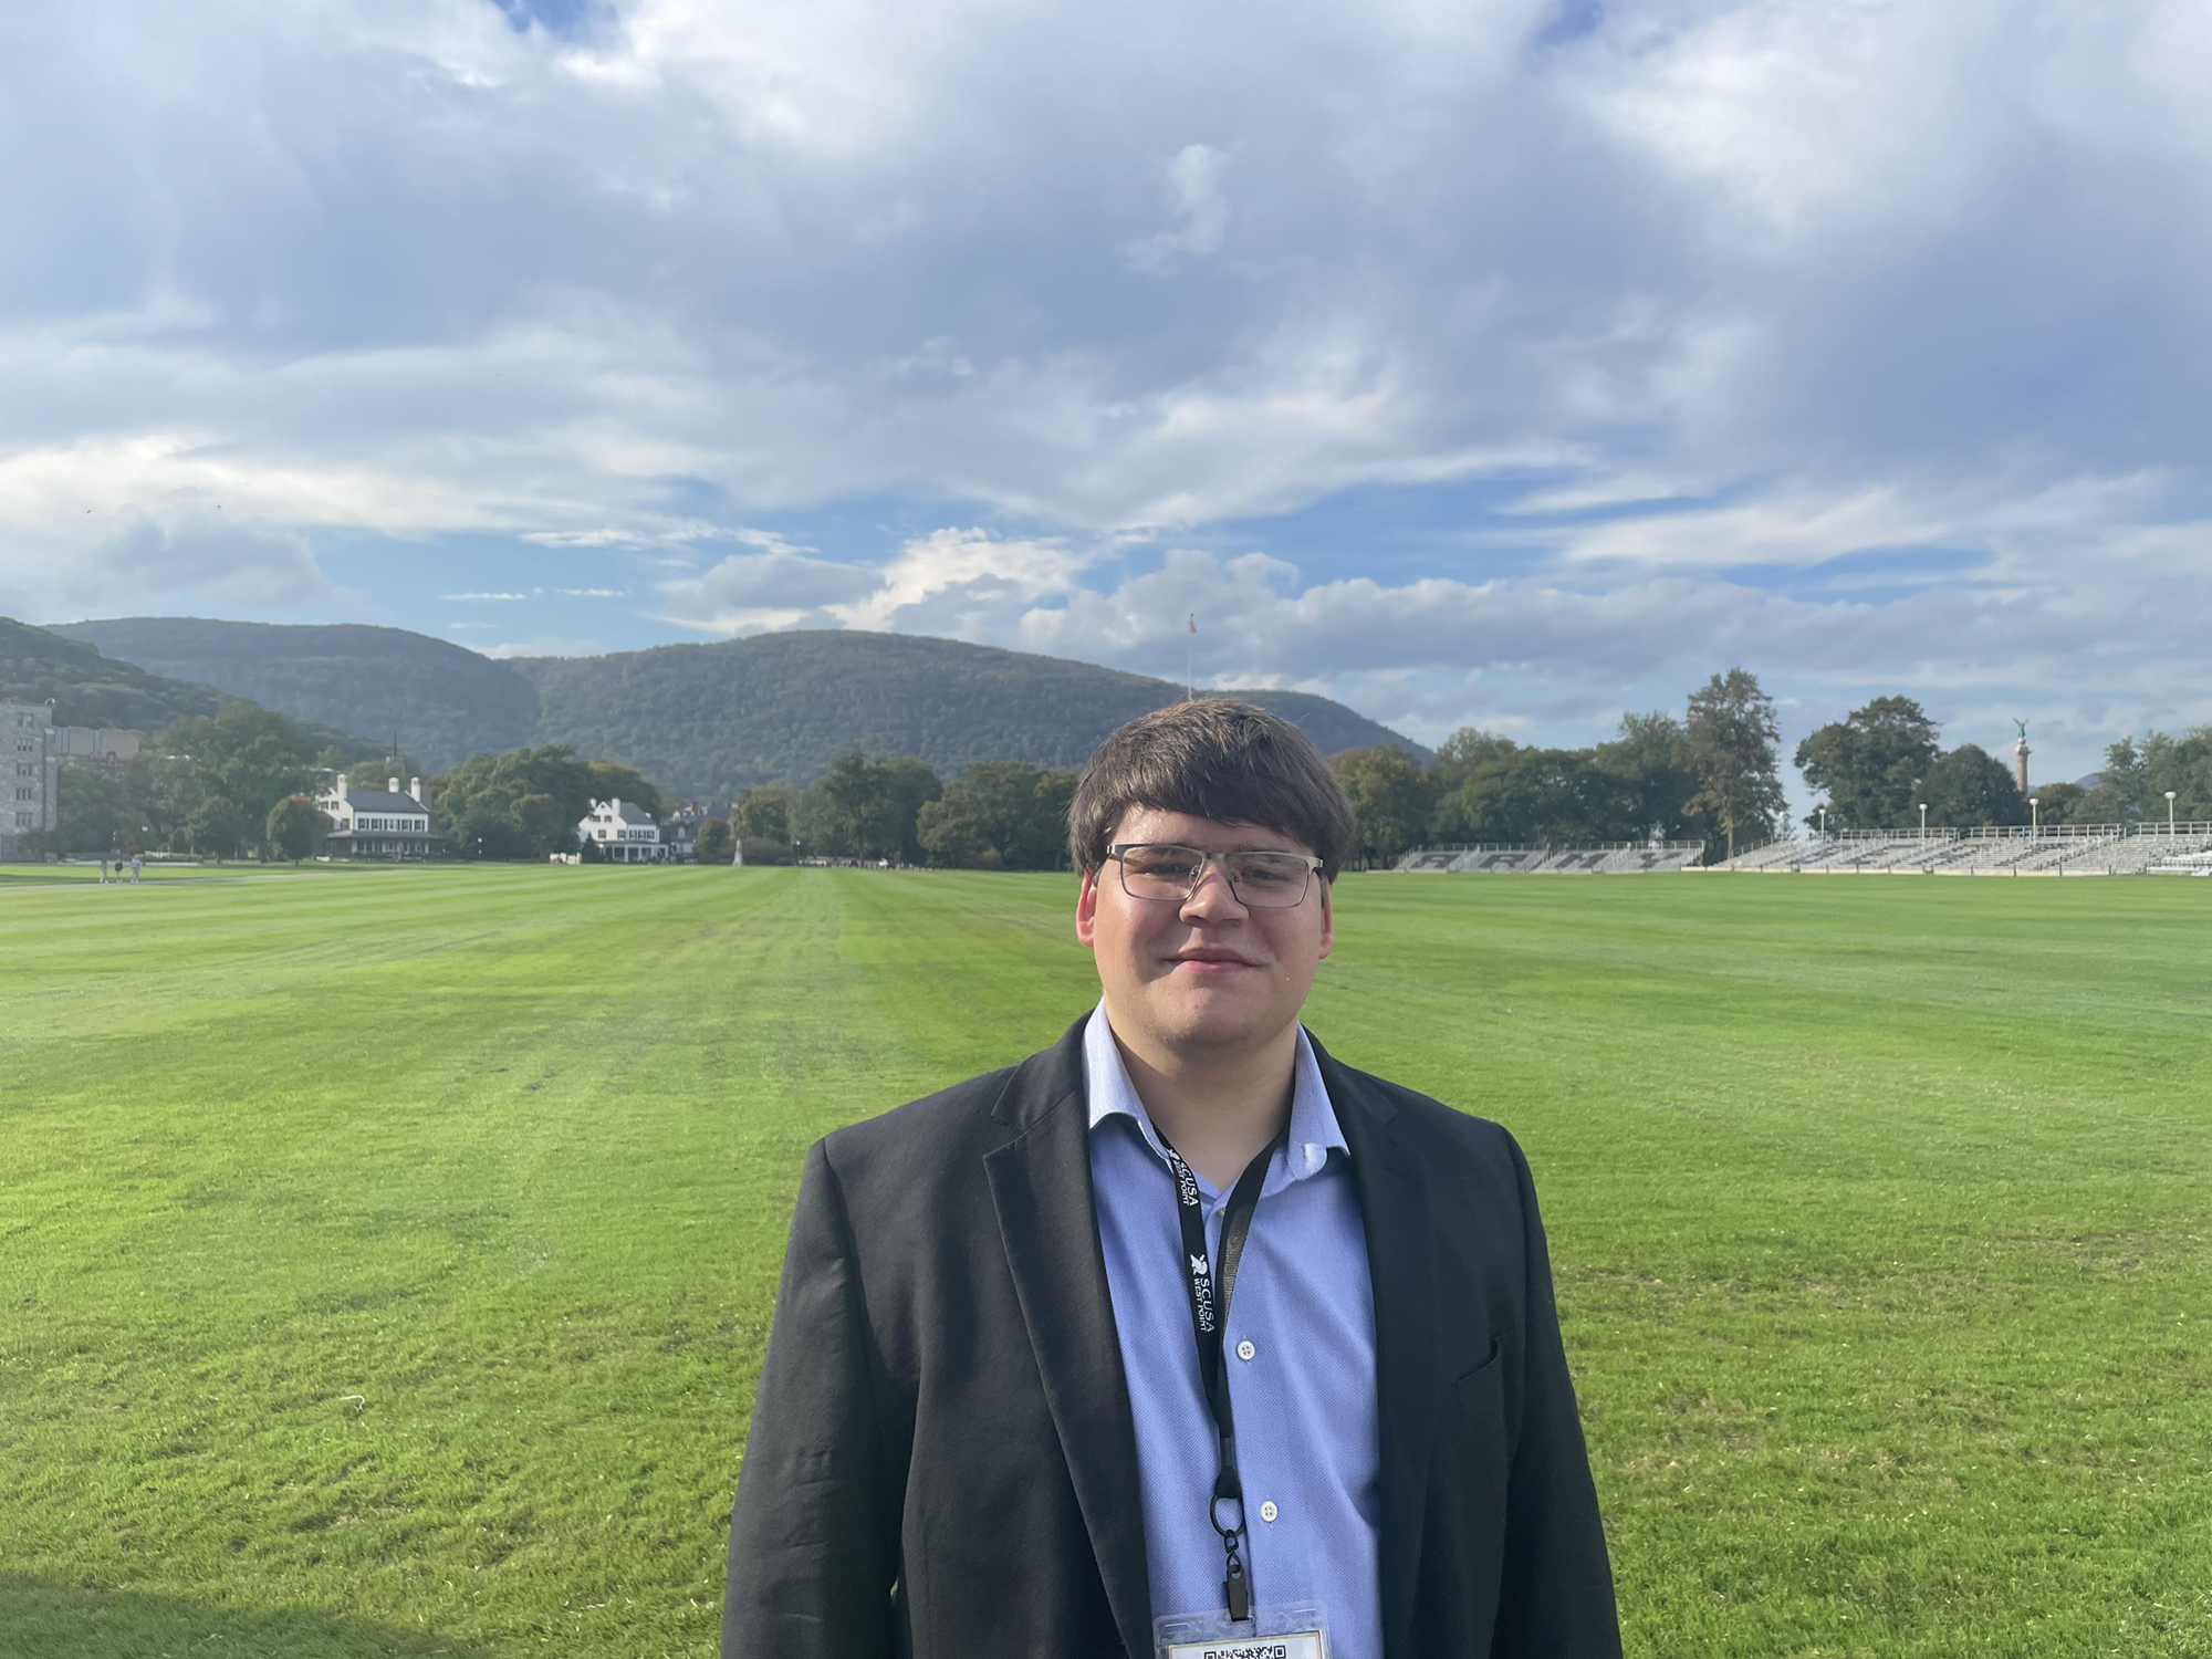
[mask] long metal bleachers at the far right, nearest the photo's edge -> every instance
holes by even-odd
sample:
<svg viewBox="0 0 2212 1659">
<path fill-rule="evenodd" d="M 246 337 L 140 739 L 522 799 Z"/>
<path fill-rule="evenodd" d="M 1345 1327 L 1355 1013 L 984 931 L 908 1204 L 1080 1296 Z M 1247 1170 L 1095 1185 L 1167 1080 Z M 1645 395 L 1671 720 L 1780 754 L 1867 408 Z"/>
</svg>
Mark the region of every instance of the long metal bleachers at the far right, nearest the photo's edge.
<svg viewBox="0 0 2212 1659">
<path fill-rule="evenodd" d="M 1765 876 L 2212 876 L 2212 823 L 1829 830 L 1712 869 Z"/>
</svg>

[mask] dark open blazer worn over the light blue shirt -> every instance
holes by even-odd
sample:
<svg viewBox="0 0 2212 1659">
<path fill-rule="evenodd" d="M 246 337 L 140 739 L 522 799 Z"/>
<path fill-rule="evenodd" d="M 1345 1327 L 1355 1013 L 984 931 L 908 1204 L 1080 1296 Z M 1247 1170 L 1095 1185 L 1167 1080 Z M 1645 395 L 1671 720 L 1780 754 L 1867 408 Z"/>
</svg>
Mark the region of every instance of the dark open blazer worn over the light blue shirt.
<svg viewBox="0 0 2212 1659">
<path fill-rule="evenodd" d="M 1338 1066 L 1376 1301 L 1389 1659 L 1610 1659 L 1528 1164 Z M 723 1659 L 1150 1659 L 1082 1022 L 807 1155 L 730 1520 Z"/>
</svg>

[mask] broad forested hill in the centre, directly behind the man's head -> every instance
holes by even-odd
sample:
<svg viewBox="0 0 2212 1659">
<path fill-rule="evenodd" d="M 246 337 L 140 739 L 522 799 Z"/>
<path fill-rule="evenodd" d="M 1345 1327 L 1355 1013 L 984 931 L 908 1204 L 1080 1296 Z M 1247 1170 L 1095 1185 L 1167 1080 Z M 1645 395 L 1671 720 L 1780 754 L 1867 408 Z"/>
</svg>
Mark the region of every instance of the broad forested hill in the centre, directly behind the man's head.
<svg viewBox="0 0 2212 1659">
<path fill-rule="evenodd" d="M 803 783 L 849 750 L 916 754 L 947 779 L 969 761 L 1073 768 L 1121 721 L 1183 695 L 1095 664 L 896 633 L 768 633 L 513 668 L 538 686 L 538 741 L 615 757 L 681 796 Z M 1245 695 L 1323 750 L 1405 743 L 1325 697 Z"/>
</svg>

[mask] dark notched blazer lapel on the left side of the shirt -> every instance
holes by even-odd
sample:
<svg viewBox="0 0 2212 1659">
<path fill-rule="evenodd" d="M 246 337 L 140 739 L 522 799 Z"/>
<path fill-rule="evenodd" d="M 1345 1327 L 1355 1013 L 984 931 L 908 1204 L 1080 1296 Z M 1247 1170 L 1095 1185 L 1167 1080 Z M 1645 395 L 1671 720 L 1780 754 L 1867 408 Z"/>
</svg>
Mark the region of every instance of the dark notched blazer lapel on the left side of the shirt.
<svg viewBox="0 0 2212 1659">
<path fill-rule="evenodd" d="M 1106 1601 L 1121 1644 L 1144 1657 L 1152 1652 L 1152 1588 L 1144 1568 L 1137 1422 L 1091 1199 L 1082 1022 L 1022 1066 L 993 1115 L 1020 1128 L 984 1157 L 1006 1267 Z"/>
</svg>

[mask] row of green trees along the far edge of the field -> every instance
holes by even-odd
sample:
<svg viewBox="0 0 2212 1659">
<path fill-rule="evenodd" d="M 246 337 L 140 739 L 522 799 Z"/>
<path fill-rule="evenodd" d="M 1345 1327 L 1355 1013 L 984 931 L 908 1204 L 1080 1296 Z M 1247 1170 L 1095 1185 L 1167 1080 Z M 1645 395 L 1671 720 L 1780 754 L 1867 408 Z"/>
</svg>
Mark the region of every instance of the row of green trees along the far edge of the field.
<svg viewBox="0 0 2212 1659">
<path fill-rule="evenodd" d="M 312 792 L 330 772 L 361 787 L 414 776 L 407 754 L 334 743 L 327 728 L 252 703 L 161 728 L 122 770 L 64 765 L 60 827 L 46 849 L 91 856 L 168 849 L 232 858 L 265 849 L 310 856 L 330 834 Z M 1816 805 L 1807 827 L 2022 825 L 2031 807 L 2011 768 L 1973 743 L 1944 748 L 1909 697 L 1876 697 L 1805 737 L 1792 759 Z M 2046 825 L 2212 821 L 2212 728 L 2148 732 L 2106 748 L 2088 781 L 2037 785 Z M 1453 732 L 1433 763 L 1396 745 L 1343 750 L 1332 768 L 1358 814 L 1356 863 L 1391 863 L 1422 843 L 1705 841 L 1717 854 L 1785 827 L 1774 701 L 1743 668 L 1714 675 L 1677 717 L 1626 714 L 1590 748 L 1540 748 L 1478 728 Z M 911 757 L 843 754 L 799 787 L 743 792 L 710 823 L 701 856 L 745 863 L 801 856 L 962 869 L 1066 865 L 1066 810 L 1077 774 L 1024 761 L 975 761 L 951 783 Z M 462 858 L 544 858 L 577 847 L 593 801 L 633 801 L 666 816 L 635 768 L 580 759 L 568 745 L 476 754 L 429 779 L 431 827 Z"/>
</svg>

